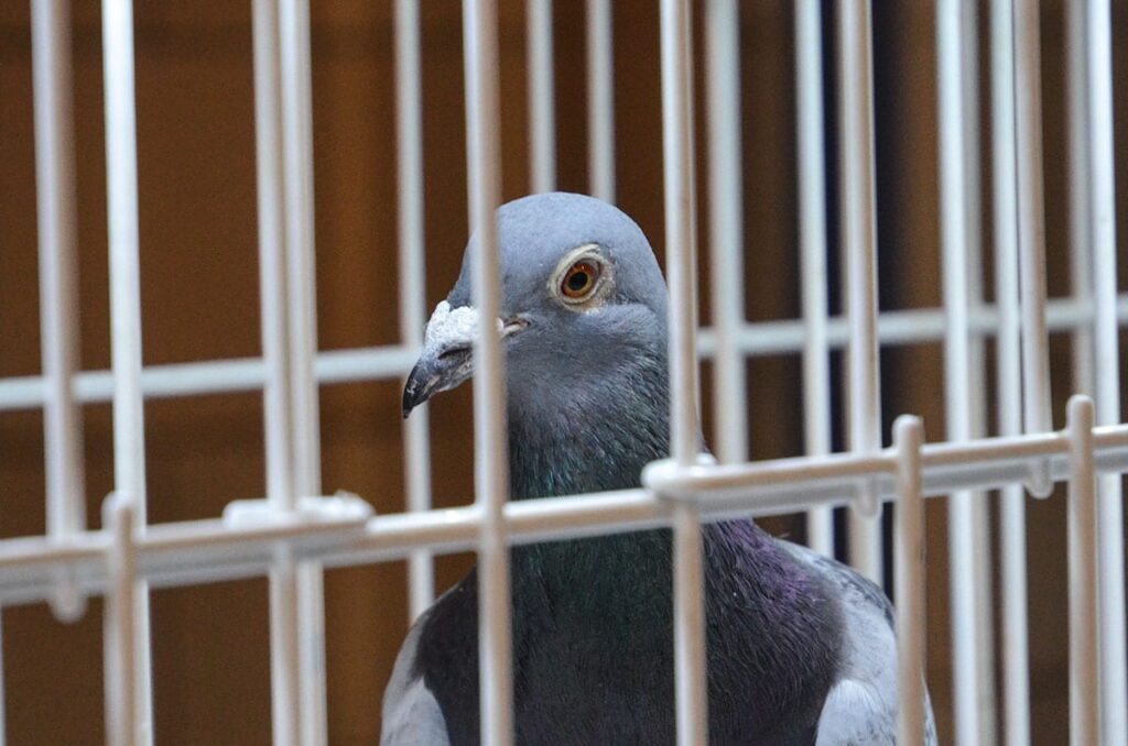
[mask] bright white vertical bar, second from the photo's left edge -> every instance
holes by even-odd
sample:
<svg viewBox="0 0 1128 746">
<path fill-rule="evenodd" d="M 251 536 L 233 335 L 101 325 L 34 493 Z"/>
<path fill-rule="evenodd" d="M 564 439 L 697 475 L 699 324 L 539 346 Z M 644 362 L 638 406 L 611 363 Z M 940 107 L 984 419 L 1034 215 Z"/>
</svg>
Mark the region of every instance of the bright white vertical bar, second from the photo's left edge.
<svg viewBox="0 0 1128 746">
<path fill-rule="evenodd" d="M 111 355 L 114 373 L 114 490 L 129 503 L 130 517 L 146 525 L 144 403 L 141 397 L 141 277 L 138 237 L 136 114 L 133 90 L 133 3 L 102 5 L 103 65 L 106 108 L 106 202 L 109 225 Z M 126 689 L 135 707 L 129 740 L 152 739 L 152 693 L 149 650 L 149 593 L 144 583 L 130 593 L 130 606 L 117 610 L 117 622 L 130 609 L 131 634 L 122 650 L 131 670 Z M 123 602 L 124 603 L 124 602 Z M 107 616 L 112 615 L 107 611 Z M 107 619 L 107 625 L 114 620 Z"/>
</svg>

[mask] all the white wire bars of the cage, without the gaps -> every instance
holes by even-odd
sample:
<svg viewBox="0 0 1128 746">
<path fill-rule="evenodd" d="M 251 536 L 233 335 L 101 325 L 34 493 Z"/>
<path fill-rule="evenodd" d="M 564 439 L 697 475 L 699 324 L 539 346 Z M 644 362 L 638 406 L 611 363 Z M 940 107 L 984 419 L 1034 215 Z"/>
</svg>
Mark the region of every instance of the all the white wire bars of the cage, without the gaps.
<svg viewBox="0 0 1128 746">
<path fill-rule="evenodd" d="M 0 604 L 49 603 L 61 621 L 104 598 L 107 740 L 152 743 L 150 593 L 224 579 L 267 578 L 272 736 L 275 744 L 327 743 L 326 569 L 406 560 L 417 616 L 435 596 L 437 554 L 472 551 L 482 580 L 482 740 L 512 743 L 510 545 L 669 527 L 675 535 L 675 649 L 679 744 L 707 743 L 702 580 L 703 521 L 805 513 L 807 539 L 834 553 L 845 534 L 849 561 L 884 583 L 897 602 L 898 743 L 920 743 L 925 677 L 925 498 L 948 506 L 952 636 L 952 740 L 1031 743 L 1028 658 L 1026 495 L 1066 483 L 1068 518 L 1068 726 L 1072 743 L 1128 743 L 1123 516 L 1128 425 L 1120 412 L 1119 331 L 1128 297 L 1117 287 L 1117 150 L 1113 140 L 1113 23 L 1109 2 L 1066 3 L 1070 127 L 1068 296 L 1047 296 L 1040 122 L 1040 7 L 1033 0 L 937 0 L 935 12 L 940 255 L 938 308 L 879 311 L 872 20 L 865 0 L 796 0 L 792 11 L 799 160 L 800 317 L 748 321 L 741 286 L 744 225 L 741 172 L 740 3 L 661 0 L 666 270 L 671 295 L 671 456 L 652 463 L 643 487 L 619 492 L 509 501 L 504 481 L 503 363 L 484 328 L 474 380 L 475 498 L 431 508 L 430 426 L 405 421 L 405 503 L 374 515 L 362 497 L 321 485 L 319 387 L 398 380 L 414 362 L 426 320 L 424 270 L 421 8 L 394 2 L 398 202 L 398 330 L 394 345 L 319 348 L 312 194 L 310 8 L 303 0 L 253 0 L 254 115 L 261 284 L 261 358 L 142 365 L 142 304 L 134 91 L 134 9 L 102 2 L 112 367 L 80 370 L 76 301 L 73 122 L 69 3 L 32 0 L 42 373 L 0 380 L 0 410 L 42 409 L 43 535 L 0 539 Z M 476 305 L 496 316 L 500 283 L 494 211 L 501 203 L 497 6 L 461 5 L 468 222 L 482 231 Z M 832 28 L 823 28 L 830 18 Z M 556 187 L 552 0 L 528 0 L 530 184 Z M 616 92 L 614 6 L 587 0 L 585 90 L 590 190 L 614 202 Z M 990 130 L 980 132 L 969 92 L 979 32 L 989 32 Z M 832 36 L 835 59 L 825 60 Z M 693 45 L 700 43 L 699 54 Z M 696 151 L 695 76 L 704 80 L 705 152 Z M 832 65 L 838 161 L 828 171 L 825 68 Z M 994 175 L 994 288 L 987 303 L 977 205 L 976 143 L 989 140 Z M 698 323 L 697 171 L 708 176 L 700 215 L 711 251 L 711 323 Z M 829 307 L 828 174 L 839 179 L 841 314 Z M 830 247 L 834 248 L 834 247 Z M 1051 332 L 1074 339 L 1076 394 L 1054 428 Z M 884 349 L 928 340 L 944 352 L 944 439 L 925 443 L 919 418 L 882 433 Z M 986 344 L 995 354 L 987 367 Z M 835 350 L 843 365 L 846 449 L 832 452 Z M 748 460 L 746 362 L 802 358 L 807 455 Z M 708 359 L 715 462 L 699 459 L 700 362 Z M 994 376 L 996 400 L 984 390 Z M 147 516 L 147 399 L 263 391 L 266 495 L 231 501 L 209 519 L 150 523 Z M 114 490 L 102 529 L 88 527 L 80 408 L 112 402 Z M 994 406 L 995 433 L 986 435 Z M 883 445 L 885 441 L 890 445 Z M 998 640 L 993 568 L 981 530 L 998 491 Z M 893 506 L 891 529 L 882 513 Z M 846 516 L 845 531 L 835 510 Z M 840 522 L 839 522 L 840 523 Z M 888 536 L 887 536 L 888 533 Z M 891 541 L 890 541 L 891 540 Z M 885 548 L 892 544 L 892 551 Z M 892 567 L 883 567 L 887 558 Z M 994 702 L 998 647 L 1001 701 Z M 0 682 L 3 681 L 0 675 Z M 1099 693 L 1099 695 L 1096 694 Z M 1119 704 L 1118 704 L 1119 703 Z M 0 710 L 2 714 L 2 710 Z M 0 717 L 0 726 L 3 719 Z M 0 728 L 0 740 L 3 729 Z M 1002 734 L 999 736 L 998 734 Z"/>
</svg>

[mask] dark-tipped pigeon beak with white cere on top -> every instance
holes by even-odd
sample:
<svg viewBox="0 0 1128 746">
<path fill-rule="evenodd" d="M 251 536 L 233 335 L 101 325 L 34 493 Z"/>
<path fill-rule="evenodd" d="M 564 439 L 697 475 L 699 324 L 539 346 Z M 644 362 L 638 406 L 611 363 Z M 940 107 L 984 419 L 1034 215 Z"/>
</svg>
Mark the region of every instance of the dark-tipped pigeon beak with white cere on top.
<svg viewBox="0 0 1128 746">
<path fill-rule="evenodd" d="M 404 419 L 421 403 L 439 393 L 461 384 L 474 373 L 474 335 L 477 329 L 477 310 L 464 305 L 451 309 L 447 301 L 439 303 L 428 322 L 415 367 L 404 385 Z M 522 331 L 527 319 L 512 317 L 496 320 L 502 338 Z"/>
</svg>

